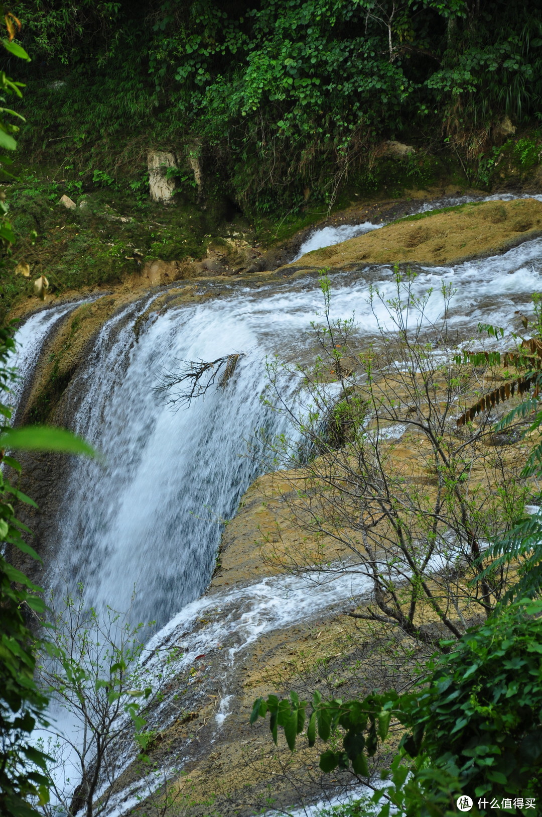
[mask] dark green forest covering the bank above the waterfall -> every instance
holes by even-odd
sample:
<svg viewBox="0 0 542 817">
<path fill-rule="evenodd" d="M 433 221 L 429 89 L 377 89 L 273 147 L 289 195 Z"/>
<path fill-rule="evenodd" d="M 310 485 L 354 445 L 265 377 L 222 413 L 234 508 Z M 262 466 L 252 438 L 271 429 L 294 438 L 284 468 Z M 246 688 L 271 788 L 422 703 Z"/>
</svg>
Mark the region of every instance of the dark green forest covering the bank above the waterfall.
<svg viewBox="0 0 542 817">
<path fill-rule="evenodd" d="M 541 10 L 540 0 L 23 0 L 13 11 L 33 61 L 22 141 L 90 181 L 144 185 L 153 146 L 184 157 L 188 195 L 197 159 L 207 194 L 220 187 L 242 208 L 329 202 L 357 174 L 367 181 L 385 140 L 469 163 L 502 144 L 505 117 L 536 123 Z"/>
</svg>

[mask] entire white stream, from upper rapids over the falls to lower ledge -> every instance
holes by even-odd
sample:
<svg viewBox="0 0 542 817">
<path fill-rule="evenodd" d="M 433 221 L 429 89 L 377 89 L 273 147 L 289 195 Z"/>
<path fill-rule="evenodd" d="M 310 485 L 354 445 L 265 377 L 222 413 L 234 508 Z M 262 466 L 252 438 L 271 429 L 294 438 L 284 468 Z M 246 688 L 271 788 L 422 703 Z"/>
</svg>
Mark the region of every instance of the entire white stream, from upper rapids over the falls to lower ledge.
<svg viewBox="0 0 542 817">
<path fill-rule="evenodd" d="M 334 234 L 325 228 L 310 236 L 304 252 L 375 226 L 333 228 Z M 542 289 L 542 239 L 497 257 L 415 271 L 415 292 L 433 289 L 425 319 L 442 315 L 439 289 L 449 284 L 455 294 L 448 320 L 460 334 L 472 335 L 480 321 L 505 326 L 515 310 L 529 311 L 531 292 Z M 369 288 L 385 301 L 394 285 L 389 266 L 332 275 L 331 317 L 355 313 L 360 342 L 374 337 L 388 317 L 378 299 L 371 309 Z M 300 578 L 265 579 L 202 597 L 222 522 L 233 516 L 260 473 L 258 457 L 247 457 L 247 440 L 260 429 L 270 435 L 291 431 L 287 419 L 262 399 L 266 361 L 274 355 L 294 363 L 309 358 L 311 321 L 322 313 L 322 293 L 315 277 L 306 275 L 260 288 L 221 286 L 220 297 L 160 311 L 153 310 L 156 297 L 146 295 L 104 324 L 87 365 L 69 387 L 73 431 L 95 445 L 104 462 L 73 463 L 48 583 L 61 590 L 59 576 L 70 586 L 80 581 L 96 608 L 130 608 L 134 621 L 156 621 L 163 629 L 149 643 L 149 656 L 158 644 L 181 640 L 183 661 L 193 661 L 233 634 L 224 652 L 226 667 L 261 632 L 287 627 L 368 589 L 363 577 L 344 574 L 310 592 Z M 31 376 L 51 326 L 74 306 L 43 310 L 20 329 L 13 363 L 23 377 Z M 162 373 L 178 369 L 180 361 L 234 354 L 241 356 L 229 380 L 188 408 L 172 407 L 154 391 Z M 279 377 L 291 395 L 291 377 Z M 220 615 L 213 614 L 217 610 Z M 193 623 L 203 613 L 209 623 L 196 630 Z M 227 701 L 218 713 L 217 728 L 231 706 Z"/>
</svg>

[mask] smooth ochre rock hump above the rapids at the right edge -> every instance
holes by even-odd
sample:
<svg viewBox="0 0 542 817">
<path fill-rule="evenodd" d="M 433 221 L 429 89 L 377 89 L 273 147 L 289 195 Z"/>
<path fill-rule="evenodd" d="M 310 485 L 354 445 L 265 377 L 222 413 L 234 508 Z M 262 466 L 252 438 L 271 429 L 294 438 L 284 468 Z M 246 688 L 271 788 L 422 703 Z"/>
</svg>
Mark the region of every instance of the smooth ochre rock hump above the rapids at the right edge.
<svg viewBox="0 0 542 817">
<path fill-rule="evenodd" d="M 344 270 L 359 264 L 409 261 L 456 264 L 497 255 L 540 234 L 542 203 L 535 199 L 471 203 L 402 219 L 340 245 L 307 252 L 295 265 Z"/>
</svg>

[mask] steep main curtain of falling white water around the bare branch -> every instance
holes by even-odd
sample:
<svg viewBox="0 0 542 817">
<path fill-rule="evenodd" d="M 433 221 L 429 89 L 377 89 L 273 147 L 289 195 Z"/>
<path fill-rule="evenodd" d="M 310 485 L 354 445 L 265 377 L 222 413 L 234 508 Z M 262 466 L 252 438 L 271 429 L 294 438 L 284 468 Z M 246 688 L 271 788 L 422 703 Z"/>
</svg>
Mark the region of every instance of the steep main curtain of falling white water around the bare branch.
<svg viewBox="0 0 542 817">
<path fill-rule="evenodd" d="M 134 319 L 147 306 L 105 324 L 82 375 L 75 431 L 107 462 L 75 464 L 53 570 L 82 581 L 99 609 L 131 607 L 135 620 L 165 623 L 204 591 L 220 520 L 255 477 L 244 439 L 285 427 L 260 400 L 266 349 L 242 299 L 152 313 L 136 342 Z M 163 368 L 234 352 L 244 356 L 230 381 L 188 408 L 153 393 Z"/>
</svg>

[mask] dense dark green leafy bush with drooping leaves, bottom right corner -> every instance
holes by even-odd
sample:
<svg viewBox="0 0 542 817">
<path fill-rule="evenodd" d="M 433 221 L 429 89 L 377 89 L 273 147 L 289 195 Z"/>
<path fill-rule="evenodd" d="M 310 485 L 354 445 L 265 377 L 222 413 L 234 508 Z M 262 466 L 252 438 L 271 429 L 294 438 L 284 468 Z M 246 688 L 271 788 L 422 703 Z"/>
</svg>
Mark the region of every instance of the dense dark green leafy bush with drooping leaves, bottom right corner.
<svg viewBox="0 0 542 817">
<path fill-rule="evenodd" d="M 490 795 L 541 797 L 541 615 L 542 602 L 525 600 L 494 614 L 455 642 L 453 651 L 430 662 L 415 692 L 375 692 L 353 701 L 322 701 L 315 693 L 309 746 L 317 734 L 335 743 L 342 738 L 342 748 L 321 753 L 320 768 L 367 777 L 370 759 L 395 722 L 405 734 L 383 773 L 387 788 L 373 797 L 383 817 L 393 811 L 409 817 L 455 814 L 460 793 L 475 802 L 482 798 L 475 813 L 487 810 L 484 798 Z M 269 695 L 255 701 L 251 723 L 269 712 L 273 740 L 277 743 L 282 727 L 293 751 L 308 709 L 293 693 L 286 700 Z"/>
</svg>

